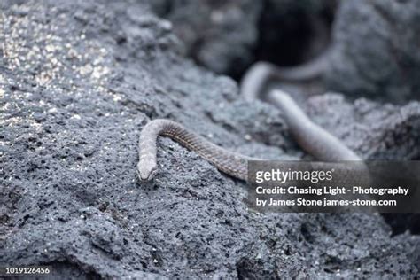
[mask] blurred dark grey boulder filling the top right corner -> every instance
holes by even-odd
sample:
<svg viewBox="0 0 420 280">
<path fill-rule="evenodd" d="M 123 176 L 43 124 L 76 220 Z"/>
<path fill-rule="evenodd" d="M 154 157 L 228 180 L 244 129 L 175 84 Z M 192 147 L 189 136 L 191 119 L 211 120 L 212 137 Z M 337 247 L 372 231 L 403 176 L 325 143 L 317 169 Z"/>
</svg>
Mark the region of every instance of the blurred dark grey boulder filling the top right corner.
<svg viewBox="0 0 420 280">
<path fill-rule="evenodd" d="M 364 97 L 420 98 L 420 2 L 341 1 L 329 88 Z"/>
</svg>

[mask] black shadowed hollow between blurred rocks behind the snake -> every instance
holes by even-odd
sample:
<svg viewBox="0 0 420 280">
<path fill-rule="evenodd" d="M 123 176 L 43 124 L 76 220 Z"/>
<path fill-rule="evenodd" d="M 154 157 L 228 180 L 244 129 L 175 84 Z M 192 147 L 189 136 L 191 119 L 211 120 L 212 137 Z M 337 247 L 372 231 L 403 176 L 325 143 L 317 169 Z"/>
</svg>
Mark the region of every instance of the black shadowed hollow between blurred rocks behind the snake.
<svg viewBox="0 0 420 280">
<path fill-rule="evenodd" d="M 228 74 L 240 81 L 249 66 L 257 61 L 268 61 L 277 66 L 297 66 L 321 54 L 330 43 L 336 9 L 333 1 L 322 3 L 319 7 L 307 8 L 302 2 L 290 4 L 284 9 L 272 1 L 264 1 L 253 59 L 245 67 L 232 63 Z"/>
</svg>

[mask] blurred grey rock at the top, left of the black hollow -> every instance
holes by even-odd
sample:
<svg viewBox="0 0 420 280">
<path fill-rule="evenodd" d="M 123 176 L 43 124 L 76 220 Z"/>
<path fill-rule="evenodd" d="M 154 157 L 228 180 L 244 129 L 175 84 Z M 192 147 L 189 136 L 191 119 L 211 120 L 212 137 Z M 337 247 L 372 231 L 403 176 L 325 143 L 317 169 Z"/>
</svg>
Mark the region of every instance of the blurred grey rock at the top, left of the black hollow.
<svg viewBox="0 0 420 280">
<path fill-rule="evenodd" d="M 244 71 L 253 61 L 262 1 L 151 1 L 159 16 L 174 24 L 186 53 L 219 74 Z"/>
</svg>

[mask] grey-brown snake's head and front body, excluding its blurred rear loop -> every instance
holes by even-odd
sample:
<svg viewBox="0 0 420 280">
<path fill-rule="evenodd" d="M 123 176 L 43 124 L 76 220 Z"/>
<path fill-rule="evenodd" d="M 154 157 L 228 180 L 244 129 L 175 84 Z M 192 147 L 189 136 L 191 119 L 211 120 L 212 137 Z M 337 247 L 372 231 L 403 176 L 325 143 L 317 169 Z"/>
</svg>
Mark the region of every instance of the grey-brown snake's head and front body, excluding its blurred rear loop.
<svg viewBox="0 0 420 280">
<path fill-rule="evenodd" d="M 307 114 L 289 94 L 280 89 L 272 90 L 268 99 L 279 106 L 284 113 L 284 120 L 291 129 L 302 149 L 319 160 L 362 160 L 346 147 L 337 137 L 311 121 Z M 261 160 L 237 152 L 230 152 L 205 137 L 199 136 L 190 128 L 185 128 L 176 121 L 155 119 L 149 121 L 140 133 L 139 161 L 136 172 L 141 181 L 150 181 L 158 173 L 157 139 L 158 136 L 172 138 L 187 149 L 197 152 L 199 156 L 211 162 L 223 173 L 237 179 L 248 180 L 248 161 Z"/>
</svg>

